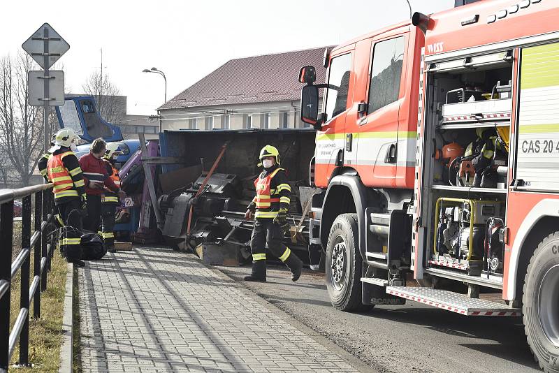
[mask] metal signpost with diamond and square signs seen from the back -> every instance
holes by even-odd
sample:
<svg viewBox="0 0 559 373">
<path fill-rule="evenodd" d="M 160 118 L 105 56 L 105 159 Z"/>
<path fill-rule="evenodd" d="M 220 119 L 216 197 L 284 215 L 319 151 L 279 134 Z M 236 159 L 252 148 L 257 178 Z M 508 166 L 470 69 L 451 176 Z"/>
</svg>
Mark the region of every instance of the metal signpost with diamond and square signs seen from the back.
<svg viewBox="0 0 559 373">
<path fill-rule="evenodd" d="M 43 71 L 29 71 L 27 84 L 29 105 L 43 106 L 46 152 L 49 148 L 49 107 L 64 105 L 64 72 L 49 71 L 49 68 L 70 49 L 70 45 L 50 24 L 45 23 L 22 44 L 22 48 L 43 68 Z"/>
</svg>

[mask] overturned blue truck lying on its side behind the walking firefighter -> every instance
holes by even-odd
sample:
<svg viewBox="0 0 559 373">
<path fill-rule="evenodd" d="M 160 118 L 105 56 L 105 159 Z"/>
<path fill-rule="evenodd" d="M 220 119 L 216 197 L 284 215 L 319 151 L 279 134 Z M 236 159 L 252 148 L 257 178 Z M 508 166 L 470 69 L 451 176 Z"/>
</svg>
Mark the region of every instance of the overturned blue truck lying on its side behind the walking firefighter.
<svg viewBox="0 0 559 373">
<path fill-rule="evenodd" d="M 119 126 L 103 120 L 94 98 L 66 98 L 57 108 L 61 127 L 71 127 L 85 144 L 103 138 L 118 142 L 122 188 L 128 198 L 119 207 L 115 233 L 119 240 L 165 242 L 175 250 L 196 251 L 207 263 L 250 260 L 252 221 L 244 219 L 254 197 L 259 151 L 274 145 L 282 156 L 291 184 L 285 243 L 309 261 L 310 164 L 314 129 L 240 129 L 164 131 L 159 140 L 123 140 Z M 313 261 L 319 248 L 311 247 Z M 318 262 L 317 262 L 318 263 Z"/>
</svg>

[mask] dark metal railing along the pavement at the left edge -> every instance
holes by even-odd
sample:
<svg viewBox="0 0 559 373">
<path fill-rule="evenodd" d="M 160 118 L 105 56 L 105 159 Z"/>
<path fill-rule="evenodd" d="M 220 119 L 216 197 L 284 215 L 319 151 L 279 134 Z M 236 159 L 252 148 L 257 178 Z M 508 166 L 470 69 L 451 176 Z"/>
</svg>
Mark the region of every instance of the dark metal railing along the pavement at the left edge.
<svg viewBox="0 0 559 373">
<path fill-rule="evenodd" d="M 49 222 L 52 208 L 52 184 L 0 190 L 0 372 L 7 372 L 17 339 L 20 359 L 17 365 L 29 366 L 29 305 L 33 317 L 41 316 L 41 292 L 47 289 L 47 273 L 54 250 Z M 34 196 L 34 232 L 31 235 L 31 196 Z M 13 237 L 13 201 L 22 198 L 22 235 Z M 13 258 L 13 240 L 21 240 L 21 250 Z M 29 285 L 31 254 L 34 277 Z M 10 293 L 12 280 L 20 275 L 20 312 L 10 332 Z M 40 291 L 39 291 L 40 289 Z"/>
</svg>

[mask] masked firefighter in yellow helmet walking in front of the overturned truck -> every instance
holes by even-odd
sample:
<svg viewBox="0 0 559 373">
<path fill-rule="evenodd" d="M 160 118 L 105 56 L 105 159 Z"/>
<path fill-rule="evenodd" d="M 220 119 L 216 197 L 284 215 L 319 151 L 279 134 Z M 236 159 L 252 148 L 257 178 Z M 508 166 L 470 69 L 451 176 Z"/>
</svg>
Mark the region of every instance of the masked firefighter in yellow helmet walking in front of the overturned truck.
<svg viewBox="0 0 559 373">
<path fill-rule="evenodd" d="M 289 226 L 286 217 L 291 186 L 287 183 L 285 170 L 279 168 L 279 152 L 275 147 L 263 147 L 260 161 L 259 166 L 263 166 L 264 170 L 254 181 L 256 196 L 245 213 L 246 219 L 252 219 L 254 214 L 250 239 L 252 273 L 245 277 L 245 281 L 266 281 L 266 244 L 272 254 L 291 270 L 291 280 L 297 281 L 303 262 L 282 242 L 285 228 Z"/>
</svg>

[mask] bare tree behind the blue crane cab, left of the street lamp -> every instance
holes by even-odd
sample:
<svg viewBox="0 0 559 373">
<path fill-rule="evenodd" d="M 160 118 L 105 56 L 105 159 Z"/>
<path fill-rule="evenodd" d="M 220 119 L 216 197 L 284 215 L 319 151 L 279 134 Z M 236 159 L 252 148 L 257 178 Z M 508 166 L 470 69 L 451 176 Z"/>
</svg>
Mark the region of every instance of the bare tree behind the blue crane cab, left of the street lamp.
<svg viewBox="0 0 559 373">
<path fill-rule="evenodd" d="M 99 115 L 107 122 L 116 122 L 122 119 L 126 108 L 125 101 L 115 96 L 119 96 L 119 89 L 110 81 L 107 74 L 95 71 L 84 85 L 82 89 L 86 94 L 94 96 L 97 103 L 97 111 Z"/>
</svg>

